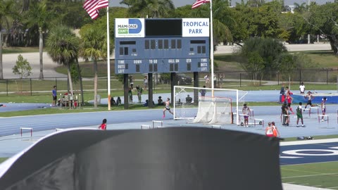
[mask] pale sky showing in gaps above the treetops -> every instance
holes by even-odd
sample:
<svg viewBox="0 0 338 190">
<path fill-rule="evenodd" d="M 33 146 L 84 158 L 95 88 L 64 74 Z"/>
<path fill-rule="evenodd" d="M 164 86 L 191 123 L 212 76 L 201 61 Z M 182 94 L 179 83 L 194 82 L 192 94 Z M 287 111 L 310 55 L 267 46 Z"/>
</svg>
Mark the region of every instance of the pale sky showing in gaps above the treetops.
<svg viewBox="0 0 338 190">
<path fill-rule="evenodd" d="M 194 4 L 194 1 L 196 0 L 172 0 L 175 7 L 179 7 L 179 6 L 185 6 L 185 5 L 192 5 Z M 246 0 L 244 0 L 246 1 Z M 269 1 L 269 0 L 265 0 L 265 1 Z M 271 0 L 270 0 L 271 1 Z M 325 4 L 326 2 L 333 2 L 334 0 L 310 0 L 310 1 L 316 1 L 318 4 Z M 241 0 L 232 0 L 232 6 L 234 6 L 236 4 L 236 2 L 241 2 Z M 285 5 L 294 5 L 294 3 L 298 3 L 298 4 L 302 4 L 303 2 L 305 2 L 306 4 L 308 3 L 307 0 L 284 0 Z M 110 0 L 110 6 L 120 6 L 120 0 Z"/>
</svg>

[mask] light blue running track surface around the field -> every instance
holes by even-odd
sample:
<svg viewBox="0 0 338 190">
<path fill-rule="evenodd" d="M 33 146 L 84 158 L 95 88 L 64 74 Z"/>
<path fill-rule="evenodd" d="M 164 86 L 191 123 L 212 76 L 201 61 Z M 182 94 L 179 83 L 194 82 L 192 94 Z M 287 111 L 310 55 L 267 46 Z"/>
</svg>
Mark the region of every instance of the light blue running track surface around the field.
<svg viewBox="0 0 338 190">
<path fill-rule="evenodd" d="M 158 94 L 156 94 L 157 96 Z M 154 97 L 156 97 L 154 96 Z M 161 95 L 160 95 L 161 96 Z M 163 94 L 162 97 L 167 97 L 169 94 Z M 327 105 L 327 115 L 330 117 L 330 122 L 318 122 L 318 116 L 314 110 L 311 115 L 308 112 L 303 114 L 304 124 L 306 127 L 296 127 L 295 115 L 291 117 L 291 125 L 284 127 L 280 121 L 280 106 L 250 106 L 250 101 L 278 101 L 279 91 L 249 91 L 246 95 L 245 101 L 248 102 L 251 110 L 254 110 L 254 118 L 263 119 L 265 125 L 251 124 L 251 127 L 241 127 L 237 125 L 223 125 L 223 129 L 238 130 L 244 132 L 251 132 L 256 134 L 264 134 L 264 128 L 267 122 L 275 121 L 276 126 L 280 130 L 282 138 L 287 137 L 303 137 L 315 135 L 329 135 L 338 134 L 337 125 L 337 105 Z M 104 103 L 104 99 L 102 100 Z M 7 107 L 0 109 L 11 111 L 20 109 L 33 109 L 33 108 L 49 108 L 46 104 L 30 104 L 30 103 L 7 103 Z M 8 107 L 9 106 L 9 107 Z M 211 125 L 194 124 L 185 120 L 173 120 L 173 116 L 167 113 L 167 117 L 162 118 L 162 109 L 149 109 L 149 110 L 121 110 L 121 111 L 104 111 L 92 113 L 65 113 L 53 115 L 32 115 L 32 116 L 19 116 L 11 118 L 1 118 L 0 125 L 0 157 L 13 156 L 15 153 L 22 151 L 27 146 L 32 144 L 32 141 L 23 140 L 20 137 L 20 127 L 33 128 L 33 141 L 44 137 L 46 134 L 55 132 L 56 128 L 71 128 L 71 127 L 97 127 L 101 124 L 103 118 L 108 120 L 108 129 L 140 129 L 141 125 L 152 125 L 152 120 L 161 120 L 164 127 L 211 127 Z M 249 122 L 253 123 L 251 117 Z M 25 138 L 29 137 L 29 133 L 24 134 Z M 312 145 L 308 145 L 311 146 Z M 330 145 L 331 146 L 331 145 Z M 332 145 L 334 146 L 334 145 Z M 336 146 L 338 146 L 336 144 Z M 289 146 L 290 148 L 299 149 L 296 146 Z M 284 151 L 286 146 L 282 146 L 281 150 Z M 318 149 L 318 148 L 311 148 Z M 281 153 L 282 153 L 281 151 Z M 312 158 L 292 159 L 287 160 L 281 158 L 281 164 L 295 164 L 295 163 L 309 163 L 314 158 L 325 160 L 325 156 L 311 156 Z M 325 159 L 324 159 L 325 158 Z M 333 158 L 338 160 L 338 158 Z M 301 161 L 299 161 L 301 160 Z M 317 162 L 317 161 L 313 161 Z"/>
</svg>

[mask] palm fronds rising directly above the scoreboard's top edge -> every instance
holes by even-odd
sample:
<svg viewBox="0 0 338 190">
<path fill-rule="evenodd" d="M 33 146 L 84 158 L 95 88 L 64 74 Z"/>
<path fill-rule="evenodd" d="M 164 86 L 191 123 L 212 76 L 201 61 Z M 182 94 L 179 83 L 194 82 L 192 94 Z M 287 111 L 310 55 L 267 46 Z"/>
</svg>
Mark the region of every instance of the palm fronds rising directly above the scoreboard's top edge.
<svg viewBox="0 0 338 190">
<path fill-rule="evenodd" d="M 138 15 L 143 18 L 164 18 L 170 11 L 175 9 L 171 0 L 124 0 L 120 4 L 129 6 L 128 12 L 131 15 Z"/>
</svg>

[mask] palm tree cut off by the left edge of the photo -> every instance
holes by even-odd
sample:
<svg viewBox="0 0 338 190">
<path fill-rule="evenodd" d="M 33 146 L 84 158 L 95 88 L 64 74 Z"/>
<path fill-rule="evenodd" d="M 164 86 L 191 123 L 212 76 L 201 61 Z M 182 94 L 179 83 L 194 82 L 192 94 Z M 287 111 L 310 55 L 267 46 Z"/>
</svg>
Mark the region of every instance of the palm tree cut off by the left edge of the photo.
<svg viewBox="0 0 338 190">
<path fill-rule="evenodd" d="M 9 20 L 13 17 L 13 7 L 14 1 L 12 0 L 0 0 L 0 79 L 4 79 L 4 74 L 2 70 L 2 30 L 3 25 L 9 27 Z"/>
</svg>

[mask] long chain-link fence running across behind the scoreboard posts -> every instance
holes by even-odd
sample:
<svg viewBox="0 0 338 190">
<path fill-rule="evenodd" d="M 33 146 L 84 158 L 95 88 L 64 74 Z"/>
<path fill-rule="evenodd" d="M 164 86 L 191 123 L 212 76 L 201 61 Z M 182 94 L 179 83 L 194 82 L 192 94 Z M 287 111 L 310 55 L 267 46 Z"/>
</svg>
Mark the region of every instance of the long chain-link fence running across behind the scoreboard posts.
<svg viewBox="0 0 338 190">
<path fill-rule="evenodd" d="M 199 87 L 205 84 L 204 76 L 210 75 L 210 72 L 199 73 Z M 144 87 L 144 74 L 132 75 L 134 87 L 139 85 Z M 182 79 L 182 75 L 177 75 L 177 80 L 184 81 L 184 86 L 193 86 L 194 77 L 192 73 L 186 73 L 187 78 Z M 280 85 L 286 82 L 293 84 L 318 83 L 318 84 L 337 84 L 338 69 L 321 69 L 321 70 L 260 70 L 257 72 L 249 72 L 245 70 L 232 70 L 214 72 L 215 87 L 236 89 L 248 85 L 261 86 L 265 85 Z M 189 78 L 190 77 L 190 78 Z M 111 77 L 111 91 L 123 90 L 123 82 L 119 81 L 114 75 Z M 254 80 L 256 79 L 256 80 Z M 211 79 L 212 80 L 212 79 Z M 108 91 L 108 78 L 106 76 L 98 78 L 97 89 L 101 92 Z M 154 91 L 161 89 L 170 89 L 170 75 L 158 74 L 154 77 Z M 36 94 L 50 94 L 54 85 L 57 86 L 58 94 L 69 91 L 67 77 L 45 77 L 44 80 L 37 78 L 29 79 L 6 79 L 0 80 L 0 96 L 8 96 L 8 94 L 20 94 L 20 96 L 32 96 Z M 82 87 L 84 91 L 94 91 L 94 78 L 83 77 Z M 73 82 L 73 90 L 75 93 L 80 92 L 80 82 Z"/>
</svg>

